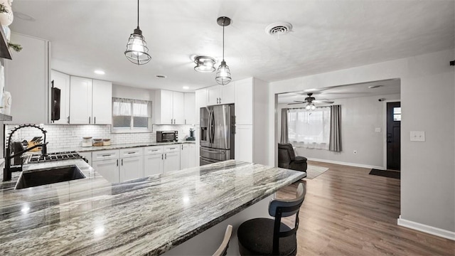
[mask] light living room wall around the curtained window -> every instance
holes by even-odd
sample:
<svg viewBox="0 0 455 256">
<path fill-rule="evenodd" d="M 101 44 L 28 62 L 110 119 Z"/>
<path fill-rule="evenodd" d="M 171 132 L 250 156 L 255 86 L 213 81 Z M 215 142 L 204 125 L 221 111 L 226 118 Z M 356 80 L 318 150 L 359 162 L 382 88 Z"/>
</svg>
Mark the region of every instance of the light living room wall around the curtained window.
<svg viewBox="0 0 455 256">
<path fill-rule="evenodd" d="M 400 95 L 378 95 L 335 100 L 341 105 L 341 152 L 324 149 L 296 147 L 296 154 L 308 159 L 328 160 L 338 164 L 365 166 L 382 169 L 384 166 L 385 102 L 378 99 L 400 100 Z M 304 104 L 278 105 L 277 120 L 281 120 L 282 108 L 305 107 Z M 375 128 L 380 132 L 375 132 Z M 281 122 L 277 124 L 281 131 Z M 281 134 L 278 134 L 281 137 Z M 296 145 L 294 145 L 296 146 Z M 353 154 L 356 150 L 357 154 Z"/>
</svg>

